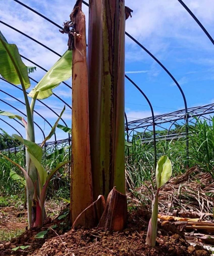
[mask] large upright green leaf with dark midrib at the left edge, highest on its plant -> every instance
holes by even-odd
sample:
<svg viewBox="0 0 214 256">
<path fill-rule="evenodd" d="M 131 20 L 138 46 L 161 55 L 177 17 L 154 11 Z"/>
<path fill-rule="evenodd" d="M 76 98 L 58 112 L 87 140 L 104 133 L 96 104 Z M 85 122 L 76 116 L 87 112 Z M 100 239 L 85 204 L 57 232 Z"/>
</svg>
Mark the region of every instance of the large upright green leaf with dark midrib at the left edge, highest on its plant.
<svg viewBox="0 0 214 256">
<path fill-rule="evenodd" d="M 19 50 L 15 44 L 8 44 L 0 31 L 0 74 L 13 84 L 23 84 L 28 89 L 30 80 L 27 67 L 21 60 Z"/>
</svg>

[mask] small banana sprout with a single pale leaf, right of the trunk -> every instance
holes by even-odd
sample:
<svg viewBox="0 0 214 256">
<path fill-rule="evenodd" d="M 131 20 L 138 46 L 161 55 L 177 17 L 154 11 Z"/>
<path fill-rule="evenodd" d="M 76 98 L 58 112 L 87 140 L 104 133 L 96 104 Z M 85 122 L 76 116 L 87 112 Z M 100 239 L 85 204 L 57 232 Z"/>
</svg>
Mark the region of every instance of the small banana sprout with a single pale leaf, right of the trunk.
<svg viewBox="0 0 214 256">
<path fill-rule="evenodd" d="M 152 217 L 149 220 L 146 244 L 151 247 L 155 247 L 155 241 L 157 236 L 157 221 L 158 221 L 158 193 L 160 188 L 168 182 L 172 175 L 172 163 L 168 156 L 161 156 L 156 167 L 156 183 L 157 192 L 155 196 L 155 202 L 152 210 Z"/>
</svg>

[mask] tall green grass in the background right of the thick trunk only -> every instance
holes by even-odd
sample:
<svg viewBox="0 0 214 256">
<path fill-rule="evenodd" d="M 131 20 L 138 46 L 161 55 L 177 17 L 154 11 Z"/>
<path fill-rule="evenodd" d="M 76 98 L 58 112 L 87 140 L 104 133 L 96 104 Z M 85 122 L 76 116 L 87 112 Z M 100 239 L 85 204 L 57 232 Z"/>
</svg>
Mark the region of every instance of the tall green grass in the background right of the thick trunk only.
<svg viewBox="0 0 214 256">
<path fill-rule="evenodd" d="M 180 127 L 182 132 L 184 127 Z M 210 121 L 196 119 L 195 125 L 189 126 L 189 159 L 190 167 L 198 166 L 202 171 L 209 172 L 214 178 L 214 118 Z M 157 131 L 161 133 L 162 131 Z M 157 157 L 167 155 L 173 165 L 173 176 L 185 172 L 186 138 L 179 137 L 172 140 L 157 142 Z M 128 152 L 126 150 L 126 152 Z M 154 143 L 143 142 L 140 134 L 133 136 L 129 156 L 126 157 L 126 173 L 128 187 L 139 187 L 144 181 L 153 184 Z"/>
</svg>

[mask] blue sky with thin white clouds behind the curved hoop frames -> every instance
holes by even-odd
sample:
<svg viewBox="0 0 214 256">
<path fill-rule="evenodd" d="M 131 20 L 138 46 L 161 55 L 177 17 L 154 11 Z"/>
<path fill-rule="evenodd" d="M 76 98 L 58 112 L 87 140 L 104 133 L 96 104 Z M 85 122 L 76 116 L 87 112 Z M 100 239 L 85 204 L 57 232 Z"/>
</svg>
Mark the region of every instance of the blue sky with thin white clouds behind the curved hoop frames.
<svg viewBox="0 0 214 256">
<path fill-rule="evenodd" d="M 69 19 L 69 14 L 75 1 L 62 0 L 22 0 L 23 3 L 38 10 L 59 25 Z M 185 0 L 185 4 L 202 22 L 210 35 L 214 37 L 214 2 L 212 0 Z M 185 11 L 177 0 L 126 0 L 125 4 L 133 9 L 132 18 L 126 22 L 126 31 L 151 51 L 173 74 L 182 87 L 188 107 L 214 102 L 214 46 L 193 18 Z M 30 10 L 12 0 L 1 0 L 0 19 L 9 25 L 25 32 L 31 37 L 41 41 L 59 54 L 67 49 L 67 36 L 58 32 L 58 28 Z M 83 12 L 88 17 L 88 8 L 83 5 Z M 15 43 L 20 54 L 32 59 L 46 69 L 49 69 L 58 56 L 49 52 L 30 39 L 0 24 L 0 30 L 8 42 Z M 154 60 L 139 46 L 126 37 L 125 71 L 127 75 L 145 92 L 154 106 L 155 114 L 171 112 L 184 108 L 184 103 L 178 88 Z M 31 63 L 24 60 L 28 66 Z M 31 76 L 40 80 L 44 71 L 37 68 Z M 71 80 L 68 81 L 71 85 Z M 32 88 L 35 83 L 32 82 Z M 23 100 L 21 92 L 9 84 L 0 81 L 0 88 L 11 95 Z M 71 90 L 61 84 L 54 92 L 66 102 L 71 104 Z M 24 108 L 11 97 L 0 92 L 0 98 L 13 104 L 21 111 Z M 61 112 L 63 103 L 52 96 L 44 100 L 57 113 Z M 18 113 L 9 106 L 0 103 L 1 110 Z M 38 110 L 44 118 L 54 124 L 57 116 L 47 111 L 37 102 Z M 125 81 L 125 111 L 128 120 L 150 116 L 150 109 L 146 100 L 133 87 Z M 71 126 L 71 111 L 66 108 L 63 119 Z M 15 121 L 9 121 L 23 135 L 24 130 Z M 48 133 L 49 127 L 44 120 L 35 115 L 34 120 Z M 8 133 L 14 133 L 0 120 L 0 127 Z M 57 139 L 67 135 L 57 131 Z M 41 132 L 36 128 L 37 142 L 42 140 Z"/>
</svg>

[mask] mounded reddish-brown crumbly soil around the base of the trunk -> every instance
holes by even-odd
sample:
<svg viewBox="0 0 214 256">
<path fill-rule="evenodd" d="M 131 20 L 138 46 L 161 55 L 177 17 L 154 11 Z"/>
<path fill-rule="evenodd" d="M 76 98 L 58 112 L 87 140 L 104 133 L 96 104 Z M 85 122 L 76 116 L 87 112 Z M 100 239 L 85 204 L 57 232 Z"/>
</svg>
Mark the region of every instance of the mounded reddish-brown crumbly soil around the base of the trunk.
<svg viewBox="0 0 214 256">
<path fill-rule="evenodd" d="M 129 215 L 127 228 L 123 232 L 111 232 L 100 228 L 79 228 L 75 231 L 69 230 L 67 233 L 60 229 L 63 220 L 55 220 L 46 226 L 57 225 L 53 230 L 49 230 L 45 238 L 34 238 L 39 229 L 30 229 L 24 232 L 19 238 L 12 239 L 7 243 L 0 243 L 0 255 L 42 255 L 42 256 L 208 256 L 202 247 L 196 249 L 185 242 L 184 237 L 165 231 L 158 226 L 158 237 L 156 247 L 149 248 L 145 245 L 149 214 L 138 210 Z M 65 221 L 65 220 L 64 220 Z M 43 228 L 42 230 L 47 230 Z M 11 251 L 17 246 L 30 247 L 25 250 Z"/>
</svg>

